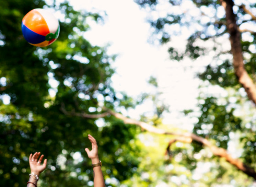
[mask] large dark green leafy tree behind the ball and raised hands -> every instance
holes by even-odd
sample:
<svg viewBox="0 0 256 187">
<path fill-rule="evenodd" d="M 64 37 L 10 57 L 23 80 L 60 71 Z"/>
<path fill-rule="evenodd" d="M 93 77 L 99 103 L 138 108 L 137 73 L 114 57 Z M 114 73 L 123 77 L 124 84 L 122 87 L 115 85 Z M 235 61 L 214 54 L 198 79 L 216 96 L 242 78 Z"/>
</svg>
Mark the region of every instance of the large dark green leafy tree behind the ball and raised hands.
<svg viewBox="0 0 256 187">
<path fill-rule="evenodd" d="M 68 2 L 48 3 L 0 2 L 0 185 L 24 186 L 30 172 L 28 155 L 40 151 L 48 159 L 40 186 L 91 186 L 93 173 L 84 151 L 90 148 L 89 133 L 98 141 L 105 178 L 126 179 L 138 164 L 136 154 L 128 154 L 136 147 L 126 146 L 137 128 L 111 117 L 105 121 L 111 126 L 101 126 L 99 120 L 62 112 L 65 108 L 93 114 L 100 112 L 99 103 L 111 109 L 125 103 L 110 85 L 115 55 L 83 37 L 90 29 L 89 18 L 103 18 L 75 11 Z M 60 35 L 48 47 L 32 46 L 22 36 L 22 18 L 34 8 L 60 16 Z M 122 152 L 115 154 L 118 149 Z M 117 162 L 120 156 L 127 162 Z"/>
</svg>

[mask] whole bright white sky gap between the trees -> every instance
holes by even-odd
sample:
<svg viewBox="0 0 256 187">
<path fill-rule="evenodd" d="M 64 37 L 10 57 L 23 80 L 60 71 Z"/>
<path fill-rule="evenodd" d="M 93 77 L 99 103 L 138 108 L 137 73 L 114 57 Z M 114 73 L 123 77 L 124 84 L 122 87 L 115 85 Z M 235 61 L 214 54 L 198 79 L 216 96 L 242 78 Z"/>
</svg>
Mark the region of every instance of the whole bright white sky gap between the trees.
<svg viewBox="0 0 256 187">
<path fill-rule="evenodd" d="M 152 91 L 147 81 L 153 75 L 158 79 L 160 91 L 165 93 L 162 99 L 171 105 L 172 113 L 168 114 L 166 122 L 184 124 L 187 119 L 181 119 L 177 111 L 194 107 L 198 96 L 195 72 L 184 70 L 184 66 L 192 65 L 191 62 L 187 60 L 183 66 L 171 62 L 166 47 L 147 42 L 151 34 L 150 25 L 146 22 L 147 13 L 133 0 L 85 0 L 82 5 L 80 2 L 72 0 L 75 9 L 106 11 L 105 23 L 90 23 L 92 29 L 86 34 L 86 39 L 93 45 L 110 43 L 108 54 L 119 54 L 113 64 L 117 72 L 112 78 L 113 87 L 136 97 L 142 92 Z M 173 40 L 177 47 L 183 45 L 180 39 Z M 129 111 L 129 115 L 138 118 L 142 112 L 150 114 L 151 110 L 148 102 L 137 110 Z"/>
</svg>

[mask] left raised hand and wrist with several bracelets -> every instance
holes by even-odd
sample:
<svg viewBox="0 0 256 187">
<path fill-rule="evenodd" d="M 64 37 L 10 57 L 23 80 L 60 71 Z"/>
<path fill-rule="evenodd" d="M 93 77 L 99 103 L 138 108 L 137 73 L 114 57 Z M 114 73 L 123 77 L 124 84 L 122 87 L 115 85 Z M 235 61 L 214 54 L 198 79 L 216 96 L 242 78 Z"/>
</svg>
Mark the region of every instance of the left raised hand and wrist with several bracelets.
<svg viewBox="0 0 256 187">
<path fill-rule="evenodd" d="M 36 152 L 33 155 L 30 154 L 29 156 L 29 165 L 30 165 L 30 178 L 27 182 L 27 187 L 37 187 L 37 181 L 39 180 L 39 175 L 42 173 L 46 168 L 47 160 L 45 159 L 43 164 L 42 160 L 44 155 L 42 154 L 38 159 L 40 152 Z"/>
</svg>

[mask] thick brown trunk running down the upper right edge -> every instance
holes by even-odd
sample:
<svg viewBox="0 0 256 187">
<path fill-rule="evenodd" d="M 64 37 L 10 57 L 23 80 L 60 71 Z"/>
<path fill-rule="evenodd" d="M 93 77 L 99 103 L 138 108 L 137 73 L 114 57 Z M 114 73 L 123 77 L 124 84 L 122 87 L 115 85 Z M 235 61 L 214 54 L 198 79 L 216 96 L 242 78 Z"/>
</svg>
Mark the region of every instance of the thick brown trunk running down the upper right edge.
<svg viewBox="0 0 256 187">
<path fill-rule="evenodd" d="M 230 34 L 231 51 L 233 54 L 233 66 L 239 83 L 244 87 L 248 98 L 256 104 L 256 86 L 244 68 L 240 32 L 236 25 L 236 17 L 233 12 L 233 0 L 220 0 L 226 12 L 226 25 Z"/>
</svg>

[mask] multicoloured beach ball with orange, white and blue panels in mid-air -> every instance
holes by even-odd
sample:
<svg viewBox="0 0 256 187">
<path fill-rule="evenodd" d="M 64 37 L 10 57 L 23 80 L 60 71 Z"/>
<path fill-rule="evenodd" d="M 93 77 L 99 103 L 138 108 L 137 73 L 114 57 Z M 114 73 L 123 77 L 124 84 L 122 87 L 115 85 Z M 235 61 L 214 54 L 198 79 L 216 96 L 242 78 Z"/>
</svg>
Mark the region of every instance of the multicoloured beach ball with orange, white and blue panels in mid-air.
<svg viewBox="0 0 256 187">
<path fill-rule="evenodd" d="M 21 30 L 28 43 L 45 47 L 58 38 L 60 26 L 59 21 L 50 11 L 33 9 L 23 17 Z"/>
</svg>

